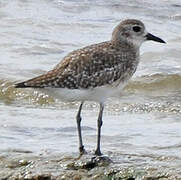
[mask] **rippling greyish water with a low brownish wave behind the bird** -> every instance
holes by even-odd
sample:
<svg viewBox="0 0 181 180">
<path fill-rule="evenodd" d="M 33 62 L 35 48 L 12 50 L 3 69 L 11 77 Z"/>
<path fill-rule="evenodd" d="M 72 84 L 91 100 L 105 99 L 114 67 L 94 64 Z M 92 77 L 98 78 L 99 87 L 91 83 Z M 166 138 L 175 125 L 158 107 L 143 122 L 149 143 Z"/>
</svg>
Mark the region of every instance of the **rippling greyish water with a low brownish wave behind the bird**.
<svg viewBox="0 0 181 180">
<path fill-rule="evenodd" d="M 36 90 L 14 89 L 12 84 L 50 70 L 74 49 L 109 40 L 113 27 L 126 18 L 142 20 L 167 44 L 146 42 L 134 78 L 120 97 L 107 102 L 102 151 L 112 152 L 114 159 L 138 156 L 138 164 L 143 164 L 143 157 L 153 158 L 156 166 L 163 164 L 158 157 L 171 159 L 164 167 L 181 175 L 179 0 L 1 0 L 0 153 L 78 151 L 79 103 L 62 103 Z M 88 150 L 95 148 L 97 115 L 98 105 L 86 103 L 82 125 Z"/>
</svg>

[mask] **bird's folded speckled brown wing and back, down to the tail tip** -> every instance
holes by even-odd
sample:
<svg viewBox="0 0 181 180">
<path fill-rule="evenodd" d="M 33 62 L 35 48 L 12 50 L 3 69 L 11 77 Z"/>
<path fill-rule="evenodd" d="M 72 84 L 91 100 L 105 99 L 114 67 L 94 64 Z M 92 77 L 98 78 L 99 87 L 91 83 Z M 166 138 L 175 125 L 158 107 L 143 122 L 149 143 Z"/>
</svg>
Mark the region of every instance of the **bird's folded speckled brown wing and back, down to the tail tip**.
<svg viewBox="0 0 181 180">
<path fill-rule="evenodd" d="M 74 51 L 52 71 L 16 87 L 86 89 L 112 84 L 124 77 L 128 63 L 126 56 L 110 48 L 102 43 Z"/>
</svg>

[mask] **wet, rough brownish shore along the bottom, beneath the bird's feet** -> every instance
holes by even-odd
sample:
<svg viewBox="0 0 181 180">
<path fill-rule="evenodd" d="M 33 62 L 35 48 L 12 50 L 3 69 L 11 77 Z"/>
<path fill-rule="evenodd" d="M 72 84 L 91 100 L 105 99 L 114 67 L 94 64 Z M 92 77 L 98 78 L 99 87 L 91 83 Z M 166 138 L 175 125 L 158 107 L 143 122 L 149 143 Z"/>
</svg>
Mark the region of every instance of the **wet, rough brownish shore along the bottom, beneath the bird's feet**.
<svg viewBox="0 0 181 180">
<path fill-rule="evenodd" d="M 16 154 L 16 155 L 15 155 Z M 164 156 L 112 154 L 108 160 L 91 161 L 92 154 L 38 155 L 9 152 L 0 157 L 1 180 L 180 180 L 181 160 Z M 121 162 L 121 163 L 120 163 Z M 177 164 L 177 170 L 173 165 Z M 159 165 L 158 165 L 159 163 Z M 161 165 L 162 164 L 162 165 Z M 165 167 L 164 164 L 170 164 Z M 174 167 L 174 170 L 173 170 Z"/>
</svg>

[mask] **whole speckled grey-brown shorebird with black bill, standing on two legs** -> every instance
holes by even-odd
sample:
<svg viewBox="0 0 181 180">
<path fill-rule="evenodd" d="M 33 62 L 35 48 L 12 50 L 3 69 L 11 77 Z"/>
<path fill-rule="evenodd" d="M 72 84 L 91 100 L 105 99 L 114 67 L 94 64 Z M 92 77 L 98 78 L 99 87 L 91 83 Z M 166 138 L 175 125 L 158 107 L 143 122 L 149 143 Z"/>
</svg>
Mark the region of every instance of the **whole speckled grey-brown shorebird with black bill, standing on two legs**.
<svg viewBox="0 0 181 180">
<path fill-rule="evenodd" d="M 85 152 L 81 134 L 81 109 L 84 101 L 100 103 L 97 120 L 96 155 L 101 155 L 100 139 L 104 103 L 108 97 L 120 93 L 132 77 L 139 63 L 139 48 L 144 41 L 165 43 L 148 33 L 144 24 L 127 19 L 118 24 L 110 41 L 75 50 L 51 71 L 18 83 L 16 88 L 39 88 L 64 101 L 80 101 L 76 116 L 80 154 Z"/>
</svg>

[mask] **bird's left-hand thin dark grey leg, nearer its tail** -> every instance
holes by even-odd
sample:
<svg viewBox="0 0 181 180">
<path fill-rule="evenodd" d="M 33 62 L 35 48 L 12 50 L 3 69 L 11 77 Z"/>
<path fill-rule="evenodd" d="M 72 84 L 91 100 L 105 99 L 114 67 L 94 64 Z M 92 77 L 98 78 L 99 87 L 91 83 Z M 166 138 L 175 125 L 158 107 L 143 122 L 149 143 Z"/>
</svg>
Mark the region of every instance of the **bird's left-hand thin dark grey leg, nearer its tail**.
<svg viewBox="0 0 181 180">
<path fill-rule="evenodd" d="M 76 116 L 78 136 L 79 136 L 79 152 L 81 155 L 85 153 L 85 149 L 84 149 L 83 142 L 82 142 L 82 133 L 81 133 L 81 125 L 80 125 L 81 120 L 82 120 L 81 115 L 80 115 L 81 110 L 82 110 L 82 105 L 83 105 L 83 102 L 81 102 L 77 116 Z"/>
</svg>

